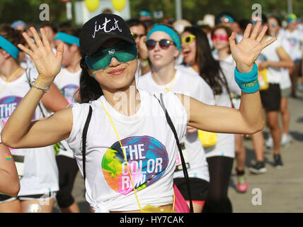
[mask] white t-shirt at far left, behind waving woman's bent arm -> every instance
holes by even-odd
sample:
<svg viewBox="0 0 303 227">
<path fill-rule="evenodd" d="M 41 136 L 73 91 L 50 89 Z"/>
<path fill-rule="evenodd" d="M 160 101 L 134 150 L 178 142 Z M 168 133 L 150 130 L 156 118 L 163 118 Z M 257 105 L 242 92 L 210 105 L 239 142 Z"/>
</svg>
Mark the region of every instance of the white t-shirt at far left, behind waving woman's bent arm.
<svg viewBox="0 0 303 227">
<path fill-rule="evenodd" d="M 35 69 L 30 70 L 31 81 L 37 76 L 38 72 Z M 0 78 L 0 87 L 4 87 L 5 84 L 6 82 Z M 1 131 L 8 117 L 11 116 L 29 89 L 30 85 L 25 73 L 6 84 L 5 89 L 0 94 Z M 41 102 L 40 106 L 44 113 L 47 113 Z M 42 113 L 37 107 L 33 119 L 39 118 L 42 118 Z M 19 178 L 21 178 L 21 189 L 18 196 L 45 194 L 59 190 L 58 170 L 52 146 L 25 149 L 10 148 L 10 150 L 16 163 Z"/>
</svg>

